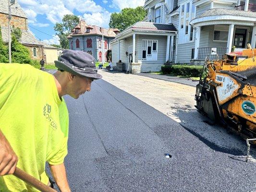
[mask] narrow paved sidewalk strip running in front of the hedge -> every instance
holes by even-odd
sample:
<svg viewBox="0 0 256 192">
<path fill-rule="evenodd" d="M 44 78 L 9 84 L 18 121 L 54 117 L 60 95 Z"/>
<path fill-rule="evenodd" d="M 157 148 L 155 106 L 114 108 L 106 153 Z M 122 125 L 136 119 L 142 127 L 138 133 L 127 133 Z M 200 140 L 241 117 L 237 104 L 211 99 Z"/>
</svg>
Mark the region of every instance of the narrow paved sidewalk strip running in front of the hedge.
<svg viewBox="0 0 256 192">
<path fill-rule="evenodd" d="M 198 81 L 192 81 L 187 78 L 180 78 L 180 77 L 168 76 L 168 75 L 159 75 L 154 73 L 137 73 L 136 75 L 141 75 L 141 76 L 150 77 L 154 79 L 160 79 L 164 81 L 171 81 L 179 84 L 186 84 L 194 87 L 199 83 Z"/>
</svg>

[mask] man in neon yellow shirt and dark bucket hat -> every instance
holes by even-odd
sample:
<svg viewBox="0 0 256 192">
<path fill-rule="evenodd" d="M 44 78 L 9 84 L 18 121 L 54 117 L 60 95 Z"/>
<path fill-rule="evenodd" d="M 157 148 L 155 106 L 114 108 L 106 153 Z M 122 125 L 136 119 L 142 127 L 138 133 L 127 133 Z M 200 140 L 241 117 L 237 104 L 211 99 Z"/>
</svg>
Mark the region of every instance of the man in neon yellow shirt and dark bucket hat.
<svg viewBox="0 0 256 192">
<path fill-rule="evenodd" d="M 38 192 L 11 175 L 16 166 L 48 184 L 45 164 L 61 192 L 70 192 L 64 166 L 68 110 L 62 96 L 77 99 L 90 91 L 95 59 L 64 50 L 51 75 L 30 65 L 0 64 L 0 192 Z"/>
</svg>

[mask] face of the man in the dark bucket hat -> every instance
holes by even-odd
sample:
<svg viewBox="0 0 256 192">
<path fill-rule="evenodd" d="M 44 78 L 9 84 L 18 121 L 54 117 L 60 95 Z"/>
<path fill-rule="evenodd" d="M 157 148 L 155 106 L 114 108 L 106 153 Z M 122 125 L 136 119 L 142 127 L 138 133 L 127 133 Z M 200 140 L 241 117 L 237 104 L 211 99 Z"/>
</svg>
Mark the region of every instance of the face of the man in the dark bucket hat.
<svg viewBox="0 0 256 192">
<path fill-rule="evenodd" d="M 73 79 L 70 82 L 68 95 L 72 96 L 75 99 L 78 99 L 79 96 L 84 94 L 86 91 L 91 90 L 92 82 L 93 82 L 93 79 L 89 77 L 73 75 Z"/>
</svg>

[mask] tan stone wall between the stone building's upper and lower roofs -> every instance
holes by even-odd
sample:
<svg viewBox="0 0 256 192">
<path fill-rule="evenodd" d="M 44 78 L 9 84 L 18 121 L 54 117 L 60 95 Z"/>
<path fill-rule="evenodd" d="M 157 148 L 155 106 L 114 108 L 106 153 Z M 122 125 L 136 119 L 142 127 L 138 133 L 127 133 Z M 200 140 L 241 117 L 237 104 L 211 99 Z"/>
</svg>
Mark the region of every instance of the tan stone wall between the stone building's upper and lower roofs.
<svg viewBox="0 0 256 192">
<path fill-rule="evenodd" d="M 0 26 L 8 27 L 8 14 L 0 13 Z M 22 30 L 27 30 L 26 18 L 12 15 L 11 27 L 19 27 Z"/>
</svg>

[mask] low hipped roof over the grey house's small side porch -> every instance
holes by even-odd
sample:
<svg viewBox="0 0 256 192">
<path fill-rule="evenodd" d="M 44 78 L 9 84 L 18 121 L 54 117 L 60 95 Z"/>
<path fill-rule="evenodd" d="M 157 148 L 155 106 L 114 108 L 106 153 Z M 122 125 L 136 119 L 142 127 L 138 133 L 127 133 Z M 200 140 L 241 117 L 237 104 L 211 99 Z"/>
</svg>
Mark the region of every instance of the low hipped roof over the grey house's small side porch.
<svg viewBox="0 0 256 192">
<path fill-rule="evenodd" d="M 122 33 L 118 34 L 115 39 L 111 42 L 114 42 L 118 39 L 123 39 L 133 34 L 141 34 L 141 35 L 171 35 L 175 34 L 177 29 L 173 24 L 158 24 L 151 22 L 137 22 L 130 27 L 126 28 Z"/>
</svg>

